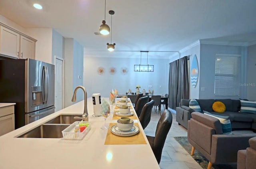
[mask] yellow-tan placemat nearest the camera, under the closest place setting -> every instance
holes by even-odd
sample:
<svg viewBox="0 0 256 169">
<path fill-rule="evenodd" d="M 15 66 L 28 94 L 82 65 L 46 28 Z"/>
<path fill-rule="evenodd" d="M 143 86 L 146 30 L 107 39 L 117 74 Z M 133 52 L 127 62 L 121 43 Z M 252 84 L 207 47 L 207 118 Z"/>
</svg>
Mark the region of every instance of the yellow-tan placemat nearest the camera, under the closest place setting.
<svg viewBox="0 0 256 169">
<path fill-rule="evenodd" d="M 120 137 L 112 134 L 110 131 L 110 128 L 115 124 L 116 123 L 109 124 L 108 133 L 107 133 L 104 145 L 146 144 L 146 140 L 144 139 L 143 134 L 141 132 L 130 137 Z M 138 123 L 134 123 L 134 125 L 138 126 L 138 128 L 140 129 L 140 126 L 138 125 Z"/>
</svg>

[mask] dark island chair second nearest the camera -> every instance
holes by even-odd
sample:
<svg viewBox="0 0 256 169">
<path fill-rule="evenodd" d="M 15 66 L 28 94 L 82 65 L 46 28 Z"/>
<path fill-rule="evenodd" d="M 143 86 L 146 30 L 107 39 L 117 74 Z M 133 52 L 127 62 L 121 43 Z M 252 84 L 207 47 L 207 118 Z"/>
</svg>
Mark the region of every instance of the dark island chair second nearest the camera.
<svg viewBox="0 0 256 169">
<path fill-rule="evenodd" d="M 139 120 L 143 130 L 148 126 L 150 122 L 151 112 L 152 112 L 152 107 L 154 105 L 154 102 L 155 102 L 154 100 L 151 100 L 150 102 L 146 103 L 141 110 Z"/>
</svg>

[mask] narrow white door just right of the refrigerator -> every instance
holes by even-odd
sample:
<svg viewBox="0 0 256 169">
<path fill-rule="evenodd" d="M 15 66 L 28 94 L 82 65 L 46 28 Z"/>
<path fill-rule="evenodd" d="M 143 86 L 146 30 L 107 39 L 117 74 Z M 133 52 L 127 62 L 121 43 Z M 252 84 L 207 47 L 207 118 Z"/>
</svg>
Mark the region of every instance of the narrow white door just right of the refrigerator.
<svg viewBox="0 0 256 169">
<path fill-rule="evenodd" d="M 63 108 L 63 89 L 64 89 L 64 60 L 55 57 L 55 112 Z"/>
</svg>

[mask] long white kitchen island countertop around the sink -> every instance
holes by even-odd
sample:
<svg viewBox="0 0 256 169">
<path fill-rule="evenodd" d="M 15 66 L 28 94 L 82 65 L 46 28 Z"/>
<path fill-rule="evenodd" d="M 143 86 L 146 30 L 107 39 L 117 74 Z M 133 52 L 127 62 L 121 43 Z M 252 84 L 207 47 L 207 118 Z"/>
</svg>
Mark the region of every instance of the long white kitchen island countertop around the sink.
<svg viewBox="0 0 256 169">
<path fill-rule="evenodd" d="M 107 100 L 108 101 L 108 100 Z M 91 129 L 83 140 L 63 138 L 16 138 L 60 114 L 83 114 L 84 101 L 0 137 L 0 169 L 159 169 L 146 135 L 147 144 L 104 145 L 107 130 L 102 117 L 93 117 L 92 98 L 88 98 Z M 133 108 L 134 110 L 134 108 Z M 114 123 L 112 114 L 108 123 Z M 140 129 L 142 126 L 138 120 Z"/>
</svg>

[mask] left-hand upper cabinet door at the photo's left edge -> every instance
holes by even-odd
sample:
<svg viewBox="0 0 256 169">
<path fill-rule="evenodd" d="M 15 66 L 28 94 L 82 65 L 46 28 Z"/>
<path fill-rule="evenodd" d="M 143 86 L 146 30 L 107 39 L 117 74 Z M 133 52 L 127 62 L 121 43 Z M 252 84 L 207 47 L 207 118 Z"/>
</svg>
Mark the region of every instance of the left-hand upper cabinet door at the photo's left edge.
<svg viewBox="0 0 256 169">
<path fill-rule="evenodd" d="M 0 26 L 0 54 L 19 57 L 20 34 L 4 26 Z"/>
</svg>

